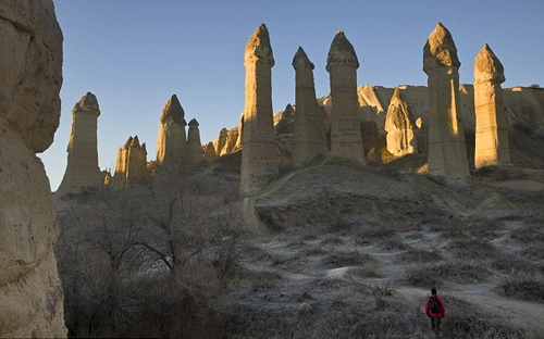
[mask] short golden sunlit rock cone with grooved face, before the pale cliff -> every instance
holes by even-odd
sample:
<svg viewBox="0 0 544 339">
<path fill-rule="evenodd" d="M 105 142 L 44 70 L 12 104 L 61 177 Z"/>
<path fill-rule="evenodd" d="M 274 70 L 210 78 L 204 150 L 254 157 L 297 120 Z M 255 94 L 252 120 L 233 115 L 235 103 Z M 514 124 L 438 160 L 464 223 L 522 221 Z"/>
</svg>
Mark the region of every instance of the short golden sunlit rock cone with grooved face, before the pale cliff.
<svg viewBox="0 0 544 339">
<path fill-rule="evenodd" d="M 387 133 L 387 150 L 395 156 L 416 153 L 418 150 L 413 133 L 413 118 L 408 112 L 408 104 L 400 98 L 400 91 L 395 88 L 385 116 Z"/>
</svg>

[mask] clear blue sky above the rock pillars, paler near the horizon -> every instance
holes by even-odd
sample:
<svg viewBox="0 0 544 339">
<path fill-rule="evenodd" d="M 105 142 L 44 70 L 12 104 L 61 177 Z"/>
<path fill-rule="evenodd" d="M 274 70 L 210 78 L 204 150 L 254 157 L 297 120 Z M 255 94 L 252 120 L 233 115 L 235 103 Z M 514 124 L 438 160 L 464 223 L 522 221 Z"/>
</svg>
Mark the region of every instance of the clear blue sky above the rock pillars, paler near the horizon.
<svg viewBox="0 0 544 339">
<path fill-rule="evenodd" d="M 131 136 L 156 158 L 161 110 L 176 95 L 202 145 L 238 124 L 244 110 L 244 49 L 265 24 L 275 65 L 273 111 L 295 103 L 293 56 L 316 65 L 316 92 L 330 92 L 326 55 L 343 29 L 359 59 L 359 86 L 426 85 L 422 51 L 437 22 L 448 28 L 473 83 L 474 58 L 489 43 L 505 67 L 503 88 L 544 86 L 542 0 L 53 0 L 64 36 L 61 121 L 39 158 L 54 191 L 66 168 L 72 108 L 87 92 L 99 102 L 98 159 L 115 166 Z"/>
</svg>

